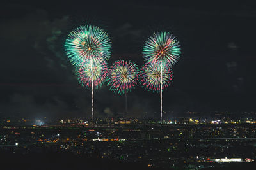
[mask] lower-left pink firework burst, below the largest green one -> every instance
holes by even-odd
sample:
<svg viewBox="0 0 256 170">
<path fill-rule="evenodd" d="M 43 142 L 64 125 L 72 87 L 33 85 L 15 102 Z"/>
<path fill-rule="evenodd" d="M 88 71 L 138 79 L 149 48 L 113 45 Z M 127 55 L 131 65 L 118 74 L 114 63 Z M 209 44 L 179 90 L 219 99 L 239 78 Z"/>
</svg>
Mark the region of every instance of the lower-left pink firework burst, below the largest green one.
<svg viewBox="0 0 256 170">
<path fill-rule="evenodd" d="M 87 60 L 80 62 L 76 68 L 76 76 L 79 83 L 86 89 L 97 89 L 106 81 L 108 67 L 105 62 Z"/>
</svg>

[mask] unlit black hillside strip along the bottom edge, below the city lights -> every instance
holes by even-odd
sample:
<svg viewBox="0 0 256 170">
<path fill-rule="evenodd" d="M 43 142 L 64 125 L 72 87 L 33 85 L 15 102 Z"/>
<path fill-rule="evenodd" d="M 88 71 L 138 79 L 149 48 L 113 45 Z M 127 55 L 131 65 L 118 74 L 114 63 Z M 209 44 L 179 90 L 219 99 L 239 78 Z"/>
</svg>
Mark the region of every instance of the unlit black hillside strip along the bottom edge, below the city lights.
<svg viewBox="0 0 256 170">
<path fill-rule="evenodd" d="M 72 153 L 29 153 L 22 155 L 21 153 L 0 153 L 1 169 L 16 170 L 16 169 L 92 169 L 92 170 L 119 170 L 119 169 L 185 169 L 182 164 L 175 168 L 150 168 L 146 162 L 124 162 L 110 159 L 100 159 L 92 157 L 84 157 L 74 155 Z M 225 167 L 214 167 L 205 169 L 255 169 L 256 164 L 248 164 L 246 162 L 225 163 Z M 187 168 L 186 168 L 187 169 Z M 190 168 L 197 169 L 197 168 Z"/>
</svg>

